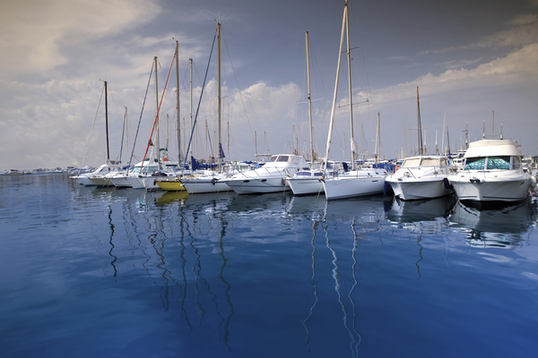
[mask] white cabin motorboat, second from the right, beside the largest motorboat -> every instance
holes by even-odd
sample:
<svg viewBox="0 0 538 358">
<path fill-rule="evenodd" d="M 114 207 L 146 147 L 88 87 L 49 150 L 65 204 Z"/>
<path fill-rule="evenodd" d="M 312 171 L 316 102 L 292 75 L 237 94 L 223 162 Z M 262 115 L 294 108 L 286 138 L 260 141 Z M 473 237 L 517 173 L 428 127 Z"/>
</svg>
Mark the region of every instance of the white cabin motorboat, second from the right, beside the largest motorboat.
<svg viewBox="0 0 538 358">
<path fill-rule="evenodd" d="M 447 156 L 405 158 L 402 166 L 386 177 L 386 183 L 401 200 L 440 198 L 454 192 L 447 180 L 449 168 Z"/>
</svg>

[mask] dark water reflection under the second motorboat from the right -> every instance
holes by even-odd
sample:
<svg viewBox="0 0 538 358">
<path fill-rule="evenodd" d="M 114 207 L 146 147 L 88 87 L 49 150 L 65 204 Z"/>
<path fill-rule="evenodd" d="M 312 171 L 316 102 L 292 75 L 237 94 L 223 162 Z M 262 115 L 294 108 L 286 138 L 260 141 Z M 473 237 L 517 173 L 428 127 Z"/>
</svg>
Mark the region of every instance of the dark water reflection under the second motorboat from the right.
<svg viewBox="0 0 538 358">
<path fill-rule="evenodd" d="M 437 217 L 448 217 L 456 204 L 453 195 L 430 200 L 403 201 L 395 198 L 392 208 L 386 213 L 390 221 L 398 223 L 414 223 L 433 221 Z"/>
</svg>

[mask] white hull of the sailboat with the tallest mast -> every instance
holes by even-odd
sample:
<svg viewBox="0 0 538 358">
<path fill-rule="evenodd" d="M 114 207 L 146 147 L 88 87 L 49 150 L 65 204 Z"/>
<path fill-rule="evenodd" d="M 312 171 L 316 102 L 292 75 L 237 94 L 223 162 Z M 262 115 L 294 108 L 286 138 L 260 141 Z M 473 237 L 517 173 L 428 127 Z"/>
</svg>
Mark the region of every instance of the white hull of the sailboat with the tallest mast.
<svg viewBox="0 0 538 358">
<path fill-rule="evenodd" d="M 366 174 L 370 175 L 366 175 Z M 347 174 L 325 179 L 327 200 L 377 195 L 383 193 L 386 171 L 383 169 L 360 170 L 357 175 Z"/>
</svg>

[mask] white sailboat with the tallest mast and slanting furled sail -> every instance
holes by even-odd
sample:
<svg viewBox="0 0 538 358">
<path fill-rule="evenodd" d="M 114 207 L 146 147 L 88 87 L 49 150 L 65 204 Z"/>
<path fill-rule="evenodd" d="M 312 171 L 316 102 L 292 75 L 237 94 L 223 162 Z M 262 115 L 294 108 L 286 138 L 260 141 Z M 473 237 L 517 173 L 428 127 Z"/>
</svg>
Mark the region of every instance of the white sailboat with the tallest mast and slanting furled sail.
<svg viewBox="0 0 538 358">
<path fill-rule="evenodd" d="M 334 98 L 333 108 L 331 111 L 331 122 L 329 124 L 329 133 L 327 136 L 327 146 L 325 154 L 326 168 L 327 160 L 329 158 L 329 152 L 331 149 L 331 139 L 333 135 L 334 126 L 334 112 L 336 108 L 336 98 L 338 94 L 338 81 L 340 77 L 340 64 L 342 62 L 342 49 L 343 49 L 343 37 L 344 33 L 347 38 L 347 60 L 348 60 L 348 84 L 349 84 L 349 96 L 350 96 L 350 123 L 351 123 L 351 171 L 343 175 L 334 175 L 332 177 L 322 177 L 323 185 L 325 189 L 325 197 L 327 200 L 341 199 L 368 196 L 383 193 L 385 185 L 386 170 L 379 167 L 369 168 L 357 168 L 355 164 L 355 150 L 356 144 L 353 138 L 353 104 L 351 93 L 351 48 L 350 48 L 350 36 L 349 36 L 349 11 L 348 2 L 346 0 L 343 10 L 343 23 L 342 23 L 342 35 L 340 38 L 340 51 L 338 52 L 338 66 L 336 69 L 336 81 L 334 84 Z M 325 172 L 325 171 L 324 171 Z"/>
</svg>

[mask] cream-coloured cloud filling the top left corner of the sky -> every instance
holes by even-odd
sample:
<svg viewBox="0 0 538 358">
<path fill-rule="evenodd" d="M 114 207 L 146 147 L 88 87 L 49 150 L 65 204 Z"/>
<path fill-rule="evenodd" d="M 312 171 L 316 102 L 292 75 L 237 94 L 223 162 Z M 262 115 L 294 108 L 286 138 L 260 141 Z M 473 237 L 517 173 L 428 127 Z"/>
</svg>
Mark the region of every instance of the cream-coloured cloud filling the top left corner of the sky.
<svg viewBox="0 0 538 358">
<path fill-rule="evenodd" d="M 6 0 L 0 3 L 0 75 L 43 72 L 65 64 L 66 45 L 116 34 L 159 13 L 144 0 Z"/>
</svg>

